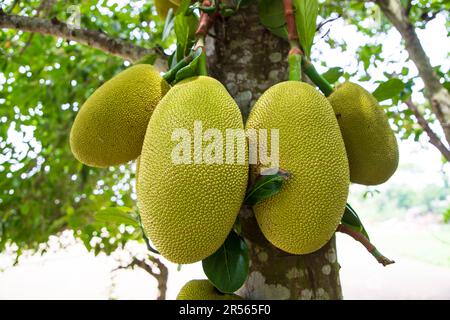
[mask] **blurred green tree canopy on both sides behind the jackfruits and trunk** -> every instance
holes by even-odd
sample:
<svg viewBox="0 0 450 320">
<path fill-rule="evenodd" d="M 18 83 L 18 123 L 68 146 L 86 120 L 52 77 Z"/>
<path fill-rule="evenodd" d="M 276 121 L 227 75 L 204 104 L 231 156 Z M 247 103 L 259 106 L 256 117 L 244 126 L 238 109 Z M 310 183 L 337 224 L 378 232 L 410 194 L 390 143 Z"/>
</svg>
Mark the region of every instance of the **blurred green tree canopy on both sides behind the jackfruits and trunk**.
<svg viewBox="0 0 450 320">
<path fill-rule="evenodd" d="M 328 70 L 324 76 L 331 83 L 371 81 L 371 66 L 385 59 L 378 38 L 396 28 L 416 70 L 404 67 L 400 73 L 384 72 L 375 95 L 386 106 L 400 138 L 418 141 L 426 135 L 448 161 L 450 115 L 441 103 L 445 97 L 433 99 L 443 95 L 435 80 L 448 90 L 450 71 L 441 66 L 428 70 L 429 61 L 424 62 L 420 48 L 414 47 L 418 39 L 411 38 L 410 29 L 426 28 L 439 15 L 446 18 L 448 28 L 450 3 L 402 0 L 398 2 L 402 14 L 393 7 L 396 3 L 320 1 L 316 42 L 346 50 L 345 41 L 337 42 L 327 34 L 336 19 L 371 40 L 354 52 L 359 65 L 351 72 L 332 61 L 320 61 L 314 48 L 312 59 Z M 76 112 L 96 88 L 144 54 L 155 54 L 155 59 L 171 54 L 174 32 L 165 34 L 165 21 L 157 16 L 152 1 L 87 0 L 70 5 L 3 1 L 0 7 L 0 252 L 12 243 L 18 256 L 24 250 L 45 250 L 42 244 L 48 237 L 66 229 L 74 230 L 86 248 L 96 253 L 111 253 L 130 239 L 144 241 L 140 228 L 117 223 L 123 212 L 137 218 L 134 165 L 86 167 L 73 157 L 68 136 Z M 74 8 L 79 10 L 84 31 L 67 29 L 66 23 L 77 12 Z M 419 77 L 424 83 L 422 93 L 416 84 Z M 413 91 L 428 99 L 413 101 Z M 436 127 L 438 132 L 432 129 Z M 105 222 L 102 210 L 116 210 L 118 220 Z M 94 237 L 100 241 L 92 241 Z"/>
</svg>

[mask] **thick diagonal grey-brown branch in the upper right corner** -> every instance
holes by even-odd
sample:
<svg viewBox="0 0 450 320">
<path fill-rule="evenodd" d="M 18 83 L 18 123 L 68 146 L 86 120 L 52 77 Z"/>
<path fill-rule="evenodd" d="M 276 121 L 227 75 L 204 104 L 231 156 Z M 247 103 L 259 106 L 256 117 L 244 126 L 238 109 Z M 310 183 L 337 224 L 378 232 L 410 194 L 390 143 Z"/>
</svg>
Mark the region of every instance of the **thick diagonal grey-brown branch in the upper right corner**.
<svg viewBox="0 0 450 320">
<path fill-rule="evenodd" d="M 385 16 L 394 25 L 405 41 L 405 48 L 410 59 L 416 65 L 419 76 L 425 85 L 425 96 L 440 122 L 445 138 L 450 144 L 450 94 L 441 84 L 440 79 L 420 43 L 414 25 L 408 18 L 407 9 L 399 0 L 375 0 Z"/>
</svg>

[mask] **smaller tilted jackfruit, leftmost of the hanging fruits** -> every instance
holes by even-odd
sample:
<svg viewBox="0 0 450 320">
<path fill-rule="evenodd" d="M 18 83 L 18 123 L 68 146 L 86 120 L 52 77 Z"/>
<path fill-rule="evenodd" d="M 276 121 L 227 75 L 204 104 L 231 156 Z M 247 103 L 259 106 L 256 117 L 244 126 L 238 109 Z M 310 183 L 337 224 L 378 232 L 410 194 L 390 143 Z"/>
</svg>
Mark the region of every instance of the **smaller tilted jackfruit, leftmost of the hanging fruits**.
<svg viewBox="0 0 450 320">
<path fill-rule="evenodd" d="M 170 89 L 151 65 L 122 71 L 98 88 L 83 104 L 70 132 L 75 158 L 92 167 L 107 167 L 136 159 L 148 121 Z"/>
</svg>

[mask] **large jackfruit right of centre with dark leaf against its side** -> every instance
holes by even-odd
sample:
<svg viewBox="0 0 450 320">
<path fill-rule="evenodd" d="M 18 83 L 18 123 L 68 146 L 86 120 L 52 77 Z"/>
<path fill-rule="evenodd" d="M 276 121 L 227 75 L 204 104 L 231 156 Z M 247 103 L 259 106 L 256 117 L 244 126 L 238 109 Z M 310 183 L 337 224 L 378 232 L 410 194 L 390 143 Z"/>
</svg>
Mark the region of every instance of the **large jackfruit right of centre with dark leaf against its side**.
<svg viewBox="0 0 450 320">
<path fill-rule="evenodd" d="M 288 253 L 320 249 L 342 218 L 350 183 L 330 103 L 306 83 L 283 82 L 259 98 L 246 127 L 279 129 L 280 168 L 291 174 L 278 194 L 253 207 L 262 233 Z M 253 178 L 259 172 L 252 168 Z"/>
</svg>

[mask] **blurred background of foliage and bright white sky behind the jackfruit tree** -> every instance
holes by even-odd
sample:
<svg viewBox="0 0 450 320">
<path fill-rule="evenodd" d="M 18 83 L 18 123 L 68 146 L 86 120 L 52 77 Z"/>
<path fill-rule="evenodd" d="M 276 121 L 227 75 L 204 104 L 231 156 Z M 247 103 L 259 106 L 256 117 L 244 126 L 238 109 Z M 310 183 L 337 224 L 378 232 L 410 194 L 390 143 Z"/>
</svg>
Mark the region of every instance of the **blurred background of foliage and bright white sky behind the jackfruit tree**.
<svg viewBox="0 0 450 320">
<path fill-rule="evenodd" d="M 46 4 L 46 5 L 43 5 Z M 353 3 L 353 2 L 351 2 Z M 164 23 L 151 1 L 71 3 L 85 28 L 159 45 Z M 66 1 L 0 2 L 6 12 L 67 21 Z M 371 4 L 322 1 L 312 60 L 374 91 L 393 76 L 407 85 L 382 102 L 400 145 L 400 166 L 384 185 L 353 185 L 349 203 L 372 242 L 396 263 L 379 265 L 338 234 L 341 283 L 347 299 L 450 299 L 450 165 L 408 112 L 402 95 L 443 132 L 423 97 L 423 83 L 402 39 Z M 444 2 L 413 1 L 418 36 L 448 84 L 449 14 Z M 414 12 L 413 12 L 414 13 Z M 0 28 L 0 299 L 174 299 L 200 264 L 177 266 L 147 250 L 136 226 L 106 223 L 98 213 L 136 214 L 135 164 L 93 169 L 70 153 L 68 134 L 83 101 L 130 62 L 37 33 Z M 444 141 L 444 139 L 442 139 Z M 445 143 L 445 142 L 444 142 Z M 144 263 L 143 263 L 144 262 Z M 167 280 L 167 288 L 165 288 Z"/>
</svg>

